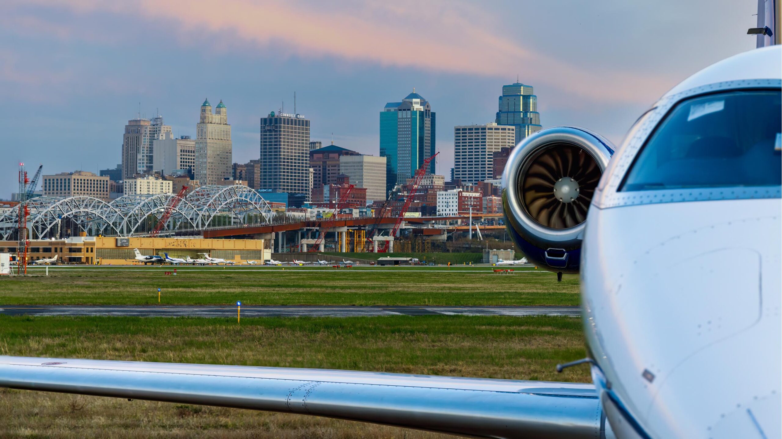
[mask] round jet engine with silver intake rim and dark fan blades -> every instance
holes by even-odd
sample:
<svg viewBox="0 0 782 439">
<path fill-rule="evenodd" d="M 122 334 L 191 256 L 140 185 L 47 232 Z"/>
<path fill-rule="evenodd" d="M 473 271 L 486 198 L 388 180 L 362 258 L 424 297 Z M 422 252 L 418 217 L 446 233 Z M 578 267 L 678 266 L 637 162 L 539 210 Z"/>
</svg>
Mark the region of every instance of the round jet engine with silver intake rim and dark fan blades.
<svg viewBox="0 0 782 439">
<path fill-rule="evenodd" d="M 502 202 L 508 233 L 529 262 L 578 273 L 584 220 L 614 150 L 604 137 L 577 127 L 540 130 L 514 148 Z"/>
</svg>

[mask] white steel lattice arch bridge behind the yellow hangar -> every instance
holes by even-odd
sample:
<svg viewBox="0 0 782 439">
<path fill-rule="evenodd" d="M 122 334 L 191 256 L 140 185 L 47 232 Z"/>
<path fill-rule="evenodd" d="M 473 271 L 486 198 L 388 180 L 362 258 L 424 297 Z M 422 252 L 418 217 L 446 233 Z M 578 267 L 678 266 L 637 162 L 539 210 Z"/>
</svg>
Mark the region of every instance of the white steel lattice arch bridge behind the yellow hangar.
<svg viewBox="0 0 782 439">
<path fill-rule="evenodd" d="M 175 196 L 123 195 L 108 203 L 86 196 L 32 198 L 27 202 L 30 209 L 27 224 L 35 238 L 48 237 L 61 219 L 71 219 L 88 234 L 130 237 L 148 233 Z M 18 215 L 19 209 L 0 214 L 0 237 L 3 240 L 8 240 L 15 233 Z M 266 200 L 249 187 L 201 186 L 179 202 L 163 231 L 266 224 L 271 222 L 273 215 Z"/>
</svg>

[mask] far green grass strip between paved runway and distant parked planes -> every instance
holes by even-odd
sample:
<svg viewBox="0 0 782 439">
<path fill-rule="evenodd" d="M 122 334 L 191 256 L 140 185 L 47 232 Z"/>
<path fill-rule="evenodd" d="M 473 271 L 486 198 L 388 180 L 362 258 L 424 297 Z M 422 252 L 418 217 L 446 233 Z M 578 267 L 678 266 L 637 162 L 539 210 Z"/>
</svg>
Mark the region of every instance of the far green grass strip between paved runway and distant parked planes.
<svg viewBox="0 0 782 439">
<path fill-rule="evenodd" d="M 30 270 L 0 278 L 0 305 L 578 305 L 579 280 L 493 267 L 170 267 Z"/>
</svg>

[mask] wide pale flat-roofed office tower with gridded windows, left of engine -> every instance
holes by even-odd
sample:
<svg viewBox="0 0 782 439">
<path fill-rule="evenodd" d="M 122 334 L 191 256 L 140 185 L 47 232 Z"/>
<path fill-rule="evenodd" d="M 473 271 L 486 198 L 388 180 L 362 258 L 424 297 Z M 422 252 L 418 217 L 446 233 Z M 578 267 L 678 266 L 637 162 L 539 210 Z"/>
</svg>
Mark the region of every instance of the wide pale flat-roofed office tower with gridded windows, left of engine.
<svg viewBox="0 0 782 439">
<path fill-rule="evenodd" d="M 454 127 L 454 178 L 475 184 L 494 178 L 494 152 L 515 145 L 515 127 L 486 123 Z"/>
</svg>

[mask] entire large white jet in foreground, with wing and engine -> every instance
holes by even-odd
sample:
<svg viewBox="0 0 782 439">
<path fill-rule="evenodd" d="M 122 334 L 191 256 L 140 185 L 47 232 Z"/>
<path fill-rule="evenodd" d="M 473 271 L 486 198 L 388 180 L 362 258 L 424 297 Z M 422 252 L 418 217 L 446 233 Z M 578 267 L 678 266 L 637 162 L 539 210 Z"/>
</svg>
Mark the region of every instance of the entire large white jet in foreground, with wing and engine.
<svg viewBox="0 0 782 439">
<path fill-rule="evenodd" d="M 695 73 L 620 148 L 554 127 L 511 152 L 508 232 L 580 271 L 589 358 L 558 369 L 588 364 L 590 384 L 3 356 L 0 386 L 469 437 L 780 437 L 780 65 L 775 45 Z"/>
</svg>

